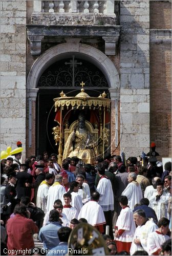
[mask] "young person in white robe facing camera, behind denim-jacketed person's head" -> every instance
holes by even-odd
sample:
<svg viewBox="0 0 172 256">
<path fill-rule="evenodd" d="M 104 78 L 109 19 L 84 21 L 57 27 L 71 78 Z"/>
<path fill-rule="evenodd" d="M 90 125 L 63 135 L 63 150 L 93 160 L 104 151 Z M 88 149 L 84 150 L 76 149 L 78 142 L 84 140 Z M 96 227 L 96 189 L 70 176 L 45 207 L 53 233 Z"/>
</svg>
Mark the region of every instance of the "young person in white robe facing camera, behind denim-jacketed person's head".
<svg viewBox="0 0 172 256">
<path fill-rule="evenodd" d="M 69 227 L 70 226 L 70 222 L 67 218 L 67 216 L 65 214 L 62 213 L 62 209 L 63 206 L 61 203 L 59 203 L 57 200 L 54 202 L 53 205 L 54 209 L 57 210 L 59 212 L 59 218 L 62 221 L 62 226 L 63 227 Z M 49 216 L 50 216 L 50 211 L 47 212 L 47 214 L 44 217 L 44 222 L 43 222 L 43 226 L 46 226 L 49 222 Z"/>
</svg>

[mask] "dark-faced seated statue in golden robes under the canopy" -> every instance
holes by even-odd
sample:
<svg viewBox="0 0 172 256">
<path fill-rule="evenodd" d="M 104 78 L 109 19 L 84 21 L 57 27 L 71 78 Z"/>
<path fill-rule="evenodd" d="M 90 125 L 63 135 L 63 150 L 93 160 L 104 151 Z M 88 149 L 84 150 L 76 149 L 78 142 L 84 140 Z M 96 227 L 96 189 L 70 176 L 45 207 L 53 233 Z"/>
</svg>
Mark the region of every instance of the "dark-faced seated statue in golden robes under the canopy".
<svg viewBox="0 0 172 256">
<path fill-rule="evenodd" d="M 85 164 L 95 163 L 98 156 L 98 141 L 94 141 L 92 134 L 85 125 L 85 115 L 80 112 L 78 115 L 78 125 L 70 134 L 63 151 L 63 159 L 76 156 Z"/>
</svg>

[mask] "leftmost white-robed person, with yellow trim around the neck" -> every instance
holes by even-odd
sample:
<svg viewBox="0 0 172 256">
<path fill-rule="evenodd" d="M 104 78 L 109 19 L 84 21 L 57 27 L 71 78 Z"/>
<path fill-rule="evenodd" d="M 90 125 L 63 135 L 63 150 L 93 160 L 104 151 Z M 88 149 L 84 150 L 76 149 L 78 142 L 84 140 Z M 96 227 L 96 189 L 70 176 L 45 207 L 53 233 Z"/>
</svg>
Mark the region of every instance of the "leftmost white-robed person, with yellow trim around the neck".
<svg viewBox="0 0 172 256">
<path fill-rule="evenodd" d="M 40 183 L 37 191 L 36 206 L 41 208 L 45 214 L 47 212 L 48 191 L 53 179 L 53 174 L 46 174 L 45 180 Z"/>
</svg>

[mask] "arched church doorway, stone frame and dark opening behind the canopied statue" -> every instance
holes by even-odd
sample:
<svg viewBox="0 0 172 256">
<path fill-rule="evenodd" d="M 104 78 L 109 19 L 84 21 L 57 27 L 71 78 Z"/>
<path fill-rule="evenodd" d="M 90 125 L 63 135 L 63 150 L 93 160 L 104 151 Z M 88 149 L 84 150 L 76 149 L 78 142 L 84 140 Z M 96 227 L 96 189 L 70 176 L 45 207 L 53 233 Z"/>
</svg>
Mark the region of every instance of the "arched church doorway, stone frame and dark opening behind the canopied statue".
<svg viewBox="0 0 172 256">
<path fill-rule="evenodd" d="M 115 117 L 117 120 L 118 116 L 117 105 L 119 96 L 119 75 L 113 62 L 101 51 L 91 46 L 76 43 L 66 43 L 55 46 L 38 57 L 29 72 L 27 80 L 27 97 L 29 102 L 27 155 L 34 153 L 40 154 L 44 150 L 49 150 L 50 152 L 55 151 L 55 147 L 49 146 L 49 148 L 47 148 L 49 142 L 50 144 L 53 144 L 52 138 L 50 138 L 50 128 L 52 129 L 52 127 L 55 126 L 52 121 L 54 120 L 53 98 L 58 97 L 61 90 L 66 90 L 66 93 L 72 92 L 74 95 L 76 95 L 77 91 L 74 93 L 74 90 L 80 90 L 80 88 L 79 84 L 78 86 L 74 87 L 64 87 L 63 85 L 65 83 L 60 84 L 60 86 L 59 84 L 56 86 L 52 86 L 52 84 L 51 86 L 48 86 L 48 84 L 46 84 L 46 86 L 41 87 L 40 80 L 46 71 L 48 71 L 48 69 L 54 65 L 54 63 L 59 63 L 60 61 L 62 62 L 65 59 L 69 60 L 73 56 L 79 60 L 82 60 L 83 62 L 90 62 L 93 67 L 96 67 L 97 70 L 99 70 L 99 72 L 104 76 L 106 86 L 96 87 L 92 83 L 90 88 L 86 86 L 85 89 L 88 88 L 89 92 L 92 91 L 94 95 L 97 91 L 97 96 L 99 95 L 99 92 L 101 93 L 104 90 L 107 94 L 109 94 L 109 97 L 112 99 L 111 124 L 113 127 L 111 127 L 111 134 L 112 137 L 115 138 L 115 133 L 118 129 L 118 125 L 116 125 L 115 129 L 114 125 Z M 68 63 L 68 61 L 66 62 Z M 51 121 L 49 122 L 49 120 Z M 44 127 L 44 129 L 41 127 Z M 115 144 L 118 144 L 117 139 L 114 146 Z"/>
</svg>

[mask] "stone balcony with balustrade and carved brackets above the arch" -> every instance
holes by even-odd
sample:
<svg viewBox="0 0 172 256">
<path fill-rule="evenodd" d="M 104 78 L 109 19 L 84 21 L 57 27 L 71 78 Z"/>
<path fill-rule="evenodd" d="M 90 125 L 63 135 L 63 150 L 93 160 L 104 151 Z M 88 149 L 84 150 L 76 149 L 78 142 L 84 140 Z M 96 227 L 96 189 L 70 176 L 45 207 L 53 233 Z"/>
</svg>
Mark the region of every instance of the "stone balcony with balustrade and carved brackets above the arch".
<svg viewBox="0 0 172 256">
<path fill-rule="evenodd" d="M 66 38 L 102 38 L 105 54 L 115 55 L 120 26 L 117 26 L 115 1 L 33 1 L 31 24 L 27 34 L 31 42 L 31 54 L 41 53 L 41 42 L 54 38 L 60 42 Z"/>
</svg>

